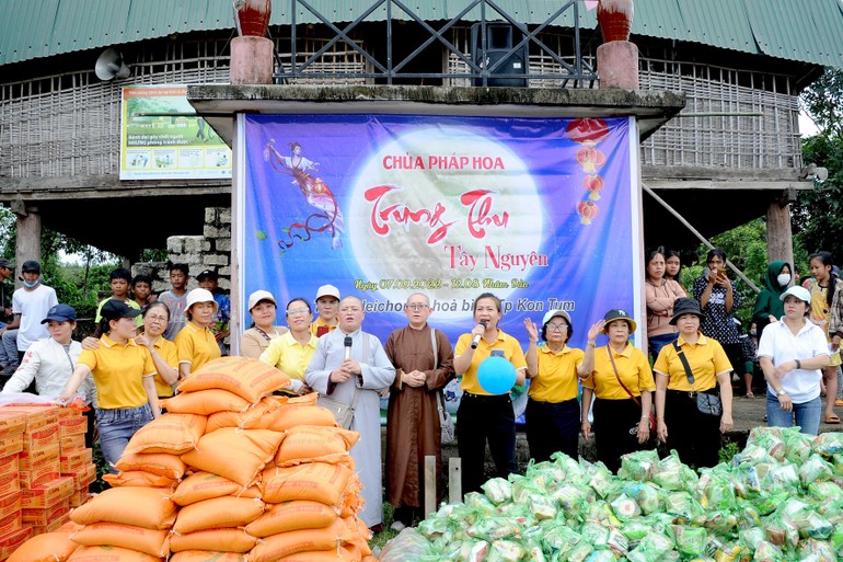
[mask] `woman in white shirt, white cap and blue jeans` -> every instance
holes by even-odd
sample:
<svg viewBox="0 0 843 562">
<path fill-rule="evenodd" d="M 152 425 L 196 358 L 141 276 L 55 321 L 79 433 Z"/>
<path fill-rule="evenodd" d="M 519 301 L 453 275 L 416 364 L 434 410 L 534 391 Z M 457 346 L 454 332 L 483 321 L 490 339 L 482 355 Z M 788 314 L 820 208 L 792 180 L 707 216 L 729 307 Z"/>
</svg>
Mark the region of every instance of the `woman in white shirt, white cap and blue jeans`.
<svg viewBox="0 0 843 562">
<path fill-rule="evenodd" d="M 761 334 L 759 363 L 767 381 L 766 414 L 771 427 L 792 427 L 817 435 L 820 427 L 822 369 L 831 353 L 822 329 L 806 319 L 811 294 L 794 286 L 782 294 L 784 317 Z"/>
</svg>

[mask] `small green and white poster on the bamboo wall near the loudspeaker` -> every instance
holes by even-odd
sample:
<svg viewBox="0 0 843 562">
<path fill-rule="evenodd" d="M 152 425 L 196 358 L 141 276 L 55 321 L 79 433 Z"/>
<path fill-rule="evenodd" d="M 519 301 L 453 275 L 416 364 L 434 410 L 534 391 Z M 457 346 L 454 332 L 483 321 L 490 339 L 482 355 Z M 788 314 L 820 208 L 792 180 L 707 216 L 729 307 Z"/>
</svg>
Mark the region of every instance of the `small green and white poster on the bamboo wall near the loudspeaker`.
<svg viewBox="0 0 843 562">
<path fill-rule="evenodd" d="M 186 93 L 184 85 L 123 88 L 120 180 L 231 177 L 231 149 Z"/>
</svg>

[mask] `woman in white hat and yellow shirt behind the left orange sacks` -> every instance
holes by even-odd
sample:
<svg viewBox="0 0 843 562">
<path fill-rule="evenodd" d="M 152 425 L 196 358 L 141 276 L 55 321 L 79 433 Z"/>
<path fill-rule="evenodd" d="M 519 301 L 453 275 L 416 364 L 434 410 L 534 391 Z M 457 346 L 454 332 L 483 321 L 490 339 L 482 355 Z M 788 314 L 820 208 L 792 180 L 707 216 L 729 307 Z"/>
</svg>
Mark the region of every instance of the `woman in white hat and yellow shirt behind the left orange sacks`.
<svg viewBox="0 0 843 562">
<path fill-rule="evenodd" d="M 178 375 L 185 378 L 206 363 L 221 356 L 213 322 L 217 301 L 208 289 L 193 289 L 187 294 L 184 314 L 187 323 L 175 336 L 178 352 Z"/>
</svg>

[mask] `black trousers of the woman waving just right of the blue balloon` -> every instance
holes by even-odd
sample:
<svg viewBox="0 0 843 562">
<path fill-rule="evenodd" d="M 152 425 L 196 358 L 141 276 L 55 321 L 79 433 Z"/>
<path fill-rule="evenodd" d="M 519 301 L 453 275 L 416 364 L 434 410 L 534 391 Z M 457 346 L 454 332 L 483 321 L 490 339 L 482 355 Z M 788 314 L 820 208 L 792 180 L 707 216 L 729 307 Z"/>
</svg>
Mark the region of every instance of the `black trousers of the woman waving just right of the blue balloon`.
<svg viewBox="0 0 843 562">
<path fill-rule="evenodd" d="M 551 460 L 556 451 L 579 458 L 579 412 L 576 398 L 555 403 L 527 401 L 527 443 L 535 462 Z"/>
</svg>

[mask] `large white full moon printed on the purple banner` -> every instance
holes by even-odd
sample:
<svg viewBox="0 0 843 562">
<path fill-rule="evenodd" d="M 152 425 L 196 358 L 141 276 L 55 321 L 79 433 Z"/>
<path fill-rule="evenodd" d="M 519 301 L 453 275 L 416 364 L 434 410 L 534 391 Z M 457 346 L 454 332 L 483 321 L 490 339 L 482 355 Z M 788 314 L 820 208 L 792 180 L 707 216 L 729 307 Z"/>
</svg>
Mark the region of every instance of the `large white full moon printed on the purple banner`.
<svg viewBox="0 0 843 562">
<path fill-rule="evenodd" d="M 503 271 L 495 259 L 541 250 L 545 218 L 527 164 L 504 144 L 465 128 L 396 136 L 360 168 L 351 191 L 347 223 L 355 260 L 369 282 L 379 283 L 381 298 L 393 302 L 414 289 L 386 287 L 383 279 L 438 279 L 438 299 L 462 301 L 482 290 L 452 279 L 528 277 L 531 267 Z M 461 255 L 476 262 L 460 263 Z M 513 290 L 495 294 L 505 299 Z M 437 317 L 464 314 L 443 310 Z"/>
</svg>

